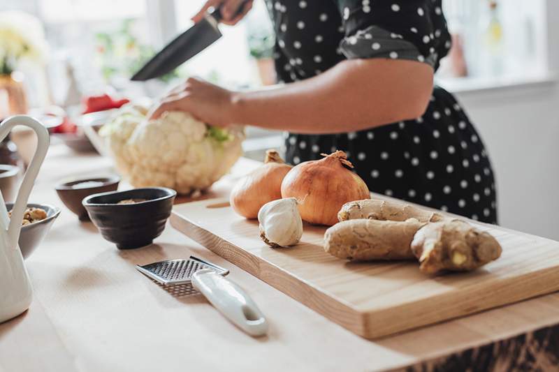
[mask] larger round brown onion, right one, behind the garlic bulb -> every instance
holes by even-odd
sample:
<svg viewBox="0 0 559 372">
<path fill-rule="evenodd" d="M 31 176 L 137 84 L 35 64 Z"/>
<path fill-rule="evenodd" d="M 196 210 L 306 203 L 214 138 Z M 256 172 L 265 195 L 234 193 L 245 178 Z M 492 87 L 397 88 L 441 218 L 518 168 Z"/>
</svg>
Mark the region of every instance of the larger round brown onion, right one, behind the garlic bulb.
<svg viewBox="0 0 559 372">
<path fill-rule="evenodd" d="M 285 176 L 282 198 L 299 201 L 299 213 L 304 221 L 335 225 L 342 205 L 370 198 L 365 181 L 346 166 L 353 168 L 343 151 L 335 151 L 317 161 L 300 163 Z"/>
</svg>

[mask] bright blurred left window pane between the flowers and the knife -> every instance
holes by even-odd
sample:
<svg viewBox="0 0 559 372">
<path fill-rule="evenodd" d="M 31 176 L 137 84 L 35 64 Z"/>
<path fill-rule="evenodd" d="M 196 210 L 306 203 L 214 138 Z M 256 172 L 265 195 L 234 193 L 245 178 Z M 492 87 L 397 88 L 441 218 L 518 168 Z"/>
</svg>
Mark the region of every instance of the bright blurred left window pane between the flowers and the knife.
<svg viewBox="0 0 559 372">
<path fill-rule="evenodd" d="M 106 90 L 108 84 L 118 89 L 119 76 L 138 59 L 143 47 L 149 47 L 146 4 L 138 0 L 0 0 L 0 10 L 23 10 L 43 22 L 50 50 L 47 73 L 24 71 L 31 106 L 79 103 L 78 96 L 65 97 L 71 84 L 68 73 L 83 94 Z"/>
</svg>

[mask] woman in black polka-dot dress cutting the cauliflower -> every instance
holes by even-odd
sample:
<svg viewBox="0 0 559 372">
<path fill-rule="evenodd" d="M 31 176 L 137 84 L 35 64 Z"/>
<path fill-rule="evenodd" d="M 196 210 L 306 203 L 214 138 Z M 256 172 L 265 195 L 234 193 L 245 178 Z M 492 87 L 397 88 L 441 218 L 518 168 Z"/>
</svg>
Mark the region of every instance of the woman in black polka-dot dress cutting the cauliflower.
<svg viewBox="0 0 559 372">
<path fill-rule="evenodd" d="M 252 2 L 210 0 L 235 24 Z M 491 164 L 456 100 L 433 87 L 451 47 L 441 0 L 267 1 L 282 87 L 228 91 L 189 79 L 154 111 L 288 131 L 297 164 L 347 152 L 371 191 L 495 223 Z M 235 15 L 235 16 L 233 16 Z"/>
</svg>

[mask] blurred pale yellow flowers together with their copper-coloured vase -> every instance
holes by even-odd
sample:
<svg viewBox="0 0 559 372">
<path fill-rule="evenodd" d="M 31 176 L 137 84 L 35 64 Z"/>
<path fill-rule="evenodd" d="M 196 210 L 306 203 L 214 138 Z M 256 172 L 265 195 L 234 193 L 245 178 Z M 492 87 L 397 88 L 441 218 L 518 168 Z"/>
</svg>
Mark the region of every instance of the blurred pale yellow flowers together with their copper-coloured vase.
<svg viewBox="0 0 559 372">
<path fill-rule="evenodd" d="M 27 99 L 17 72 L 20 62 L 40 62 L 45 54 L 41 22 L 19 11 L 0 12 L 0 118 L 27 112 Z"/>
</svg>

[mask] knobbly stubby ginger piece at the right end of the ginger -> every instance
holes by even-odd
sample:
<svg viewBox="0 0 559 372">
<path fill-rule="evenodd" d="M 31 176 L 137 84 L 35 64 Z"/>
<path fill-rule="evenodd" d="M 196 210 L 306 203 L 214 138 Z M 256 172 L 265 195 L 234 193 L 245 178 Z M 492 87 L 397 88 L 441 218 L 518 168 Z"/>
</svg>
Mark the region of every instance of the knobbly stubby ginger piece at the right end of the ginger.
<svg viewBox="0 0 559 372">
<path fill-rule="evenodd" d="M 470 271 L 497 260 L 502 252 L 497 239 L 458 219 L 428 223 L 411 244 L 421 271 Z"/>
</svg>

